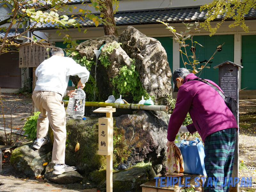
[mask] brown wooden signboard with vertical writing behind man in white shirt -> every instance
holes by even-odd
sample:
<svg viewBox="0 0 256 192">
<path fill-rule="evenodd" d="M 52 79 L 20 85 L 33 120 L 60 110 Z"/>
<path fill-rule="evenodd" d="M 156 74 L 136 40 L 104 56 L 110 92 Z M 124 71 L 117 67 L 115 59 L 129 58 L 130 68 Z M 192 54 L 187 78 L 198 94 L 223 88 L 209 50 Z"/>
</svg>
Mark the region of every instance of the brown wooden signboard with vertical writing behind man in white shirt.
<svg viewBox="0 0 256 192">
<path fill-rule="evenodd" d="M 32 78 L 32 91 L 34 91 L 36 87 L 37 77 L 35 75 L 36 68 L 47 59 L 48 52 L 46 51 L 46 47 L 49 47 L 51 44 L 49 43 L 25 43 L 19 47 L 19 68 L 32 67 L 33 68 L 33 78 Z M 38 111 L 36 108 L 34 101 L 32 104 L 33 112 Z"/>
</svg>

